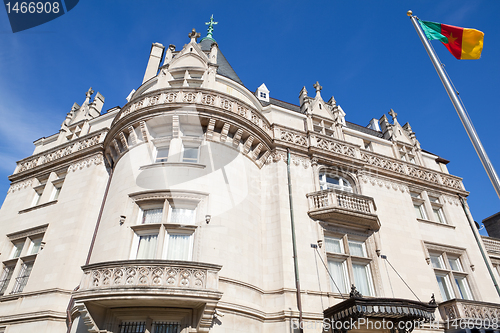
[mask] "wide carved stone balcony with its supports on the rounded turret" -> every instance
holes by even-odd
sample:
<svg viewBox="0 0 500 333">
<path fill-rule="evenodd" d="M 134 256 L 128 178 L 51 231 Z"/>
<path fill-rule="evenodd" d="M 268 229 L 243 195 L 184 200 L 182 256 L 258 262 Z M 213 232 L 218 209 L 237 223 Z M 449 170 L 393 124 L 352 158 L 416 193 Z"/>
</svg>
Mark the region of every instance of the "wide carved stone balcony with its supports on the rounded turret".
<svg viewBox="0 0 500 333">
<path fill-rule="evenodd" d="M 106 309 L 191 309 L 193 332 L 208 332 L 222 292 L 220 265 L 172 260 L 123 260 L 83 266 L 73 293 L 89 332 L 102 332 Z M 191 331 L 190 331 L 191 332 Z"/>
</svg>

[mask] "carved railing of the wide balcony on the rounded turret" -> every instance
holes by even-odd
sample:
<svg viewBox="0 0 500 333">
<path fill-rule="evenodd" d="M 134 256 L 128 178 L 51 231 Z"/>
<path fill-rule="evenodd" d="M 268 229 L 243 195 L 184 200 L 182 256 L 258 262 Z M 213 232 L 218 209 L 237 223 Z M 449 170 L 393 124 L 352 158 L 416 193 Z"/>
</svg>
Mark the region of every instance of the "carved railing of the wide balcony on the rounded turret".
<svg viewBox="0 0 500 333">
<path fill-rule="evenodd" d="M 127 260 L 83 267 L 80 290 L 103 288 L 218 289 L 220 266 L 190 261 Z"/>
</svg>

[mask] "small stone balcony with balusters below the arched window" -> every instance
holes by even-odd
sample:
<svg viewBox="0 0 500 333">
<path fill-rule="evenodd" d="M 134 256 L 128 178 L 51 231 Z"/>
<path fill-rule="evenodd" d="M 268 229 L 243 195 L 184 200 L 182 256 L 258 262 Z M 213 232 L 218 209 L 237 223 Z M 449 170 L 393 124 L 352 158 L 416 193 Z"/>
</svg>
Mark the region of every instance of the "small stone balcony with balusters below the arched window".
<svg viewBox="0 0 500 333">
<path fill-rule="evenodd" d="M 311 218 L 370 230 L 380 228 L 371 197 L 329 189 L 309 193 L 307 199 Z"/>
</svg>

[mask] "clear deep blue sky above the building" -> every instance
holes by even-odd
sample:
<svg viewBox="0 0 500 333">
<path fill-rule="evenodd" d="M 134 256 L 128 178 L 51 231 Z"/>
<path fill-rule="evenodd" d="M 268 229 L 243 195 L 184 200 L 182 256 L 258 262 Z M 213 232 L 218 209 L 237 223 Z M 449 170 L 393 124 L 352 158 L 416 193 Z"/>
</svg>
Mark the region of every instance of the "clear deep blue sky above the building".
<svg viewBox="0 0 500 333">
<path fill-rule="evenodd" d="M 104 109 L 123 106 L 142 82 L 151 43 L 181 48 L 192 28 L 214 38 L 250 90 L 298 103 L 299 91 L 323 86 L 348 121 L 367 125 L 389 109 L 409 122 L 423 149 L 451 161 L 464 178 L 474 219 L 500 201 L 420 42 L 407 10 L 421 19 L 485 33 L 480 60 L 456 60 L 433 42 L 460 91 L 493 165 L 500 169 L 500 24 L 498 1 L 140 1 L 80 0 L 69 13 L 13 34 L 0 9 L 0 200 L 15 161 L 32 142 L 56 133 L 90 86 Z M 482 230 L 484 234 L 484 230 Z"/>
</svg>

